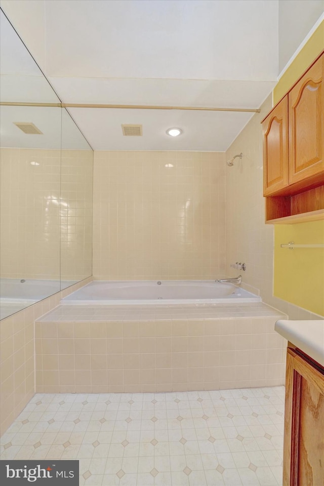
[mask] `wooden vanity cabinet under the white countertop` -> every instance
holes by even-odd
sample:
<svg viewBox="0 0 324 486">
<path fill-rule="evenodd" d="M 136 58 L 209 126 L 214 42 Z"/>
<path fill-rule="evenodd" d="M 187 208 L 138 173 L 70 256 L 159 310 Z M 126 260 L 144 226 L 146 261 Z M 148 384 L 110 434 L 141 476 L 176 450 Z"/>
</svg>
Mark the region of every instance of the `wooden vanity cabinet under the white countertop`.
<svg viewBox="0 0 324 486">
<path fill-rule="evenodd" d="M 287 350 L 284 486 L 324 485 L 324 369 Z"/>
</svg>

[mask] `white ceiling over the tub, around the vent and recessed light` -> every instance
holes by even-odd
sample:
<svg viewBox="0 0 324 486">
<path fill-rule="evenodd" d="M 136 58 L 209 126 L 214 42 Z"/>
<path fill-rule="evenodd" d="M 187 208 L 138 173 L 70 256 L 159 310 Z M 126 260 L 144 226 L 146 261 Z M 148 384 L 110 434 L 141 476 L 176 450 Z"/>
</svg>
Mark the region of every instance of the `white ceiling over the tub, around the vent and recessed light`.
<svg viewBox="0 0 324 486">
<path fill-rule="evenodd" d="M 259 108 L 276 83 L 278 0 L 1 0 L 1 5 L 65 103 Z M 252 116 L 70 112 L 97 150 L 223 151 Z M 124 137 L 121 123 L 142 124 L 143 136 Z M 184 134 L 167 136 L 172 126 Z"/>
</svg>

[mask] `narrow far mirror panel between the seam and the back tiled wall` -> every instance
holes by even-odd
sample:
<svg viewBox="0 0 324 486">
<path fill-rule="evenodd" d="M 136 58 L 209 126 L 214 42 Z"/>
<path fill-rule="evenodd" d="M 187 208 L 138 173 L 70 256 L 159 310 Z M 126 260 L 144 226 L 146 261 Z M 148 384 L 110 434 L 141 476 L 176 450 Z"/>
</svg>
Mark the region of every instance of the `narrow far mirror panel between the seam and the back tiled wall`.
<svg viewBox="0 0 324 486">
<path fill-rule="evenodd" d="M 61 290 L 92 274 L 93 151 L 62 109 Z"/>
</svg>

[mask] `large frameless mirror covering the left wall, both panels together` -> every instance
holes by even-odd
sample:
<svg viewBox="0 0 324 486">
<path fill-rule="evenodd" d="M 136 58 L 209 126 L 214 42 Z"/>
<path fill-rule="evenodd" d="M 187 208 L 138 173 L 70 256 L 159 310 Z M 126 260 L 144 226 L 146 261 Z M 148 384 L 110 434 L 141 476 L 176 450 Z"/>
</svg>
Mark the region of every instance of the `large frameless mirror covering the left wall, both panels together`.
<svg viewBox="0 0 324 486">
<path fill-rule="evenodd" d="M 93 151 L 0 12 L 1 318 L 92 274 Z"/>
</svg>

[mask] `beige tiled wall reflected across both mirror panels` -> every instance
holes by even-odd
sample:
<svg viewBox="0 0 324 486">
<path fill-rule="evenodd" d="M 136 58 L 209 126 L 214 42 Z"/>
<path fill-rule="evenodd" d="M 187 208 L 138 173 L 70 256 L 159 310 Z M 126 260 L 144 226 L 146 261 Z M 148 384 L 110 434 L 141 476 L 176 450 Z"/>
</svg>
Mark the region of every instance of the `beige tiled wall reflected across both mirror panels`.
<svg viewBox="0 0 324 486">
<path fill-rule="evenodd" d="M 1 149 L 3 278 L 91 275 L 92 154 Z"/>
</svg>

